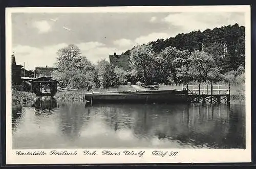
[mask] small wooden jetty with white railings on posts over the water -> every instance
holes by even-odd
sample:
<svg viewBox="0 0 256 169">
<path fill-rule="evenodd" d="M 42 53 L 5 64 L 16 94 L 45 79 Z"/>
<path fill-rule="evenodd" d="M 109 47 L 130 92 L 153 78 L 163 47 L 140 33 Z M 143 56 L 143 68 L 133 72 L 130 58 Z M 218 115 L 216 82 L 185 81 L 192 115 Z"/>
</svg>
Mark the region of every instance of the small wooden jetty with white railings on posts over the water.
<svg viewBox="0 0 256 169">
<path fill-rule="evenodd" d="M 191 103 L 230 104 L 229 84 L 182 84 L 182 90 L 188 91 L 188 102 Z"/>
</svg>

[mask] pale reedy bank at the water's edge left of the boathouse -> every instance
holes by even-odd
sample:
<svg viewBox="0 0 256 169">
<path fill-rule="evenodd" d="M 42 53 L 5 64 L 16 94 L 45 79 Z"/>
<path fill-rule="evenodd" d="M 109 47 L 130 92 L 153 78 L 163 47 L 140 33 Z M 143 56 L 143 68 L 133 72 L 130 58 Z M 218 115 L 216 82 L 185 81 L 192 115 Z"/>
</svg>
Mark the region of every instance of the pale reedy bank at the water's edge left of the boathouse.
<svg viewBox="0 0 256 169">
<path fill-rule="evenodd" d="M 12 91 L 12 105 L 19 105 L 24 102 L 35 102 L 36 95 L 28 91 Z"/>
</svg>

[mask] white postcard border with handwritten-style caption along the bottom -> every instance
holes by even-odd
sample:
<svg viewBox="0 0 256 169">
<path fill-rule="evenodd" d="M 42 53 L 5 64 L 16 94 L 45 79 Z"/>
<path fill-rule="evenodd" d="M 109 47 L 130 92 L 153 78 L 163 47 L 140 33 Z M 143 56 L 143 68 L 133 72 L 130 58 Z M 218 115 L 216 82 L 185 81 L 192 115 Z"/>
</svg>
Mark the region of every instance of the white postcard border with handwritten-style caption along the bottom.
<svg viewBox="0 0 256 169">
<path fill-rule="evenodd" d="M 134 149 L 145 151 L 142 157 L 125 156 L 122 152 L 133 149 L 55 149 L 58 151 L 77 151 L 77 155 L 52 155 L 54 149 L 13 150 L 11 125 L 11 54 L 12 22 L 11 14 L 26 13 L 79 13 L 79 12 L 244 12 L 246 43 L 246 149 Z M 213 163 L 213 162 L 251 162 L 251 67 L 250 67 L 250 6 L 154 6 L 154 7 L 51 7 L 51 8 L 6 8 L 6 162 L 7 164 L 97 164 L 97 163 Z M 97 151 L 96 156 L 83 155 L 84 150 Z M 120 156 L 102 155 L 103 150 L 121 152 Z M 178 152 L 176 156 L 152 156 L 152 152 Z M 48 155 L 15 155 L 17 151 L 44 151 Z"/>
</svg>

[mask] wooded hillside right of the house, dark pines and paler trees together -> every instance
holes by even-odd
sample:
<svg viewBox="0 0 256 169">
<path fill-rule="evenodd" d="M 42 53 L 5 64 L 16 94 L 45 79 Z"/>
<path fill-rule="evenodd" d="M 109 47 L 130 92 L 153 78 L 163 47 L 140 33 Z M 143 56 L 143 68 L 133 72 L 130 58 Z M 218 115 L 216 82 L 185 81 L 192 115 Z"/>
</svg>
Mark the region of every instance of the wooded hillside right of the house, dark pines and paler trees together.
<svg viewBox="0 0 256 169">
<path fill-rule="evenodd" d="M 144 83 L 245 81 L 245 27 L 238 24 L 157 39 L 124 54 L 131 55 L 133 76 Z"/>
</svg>

